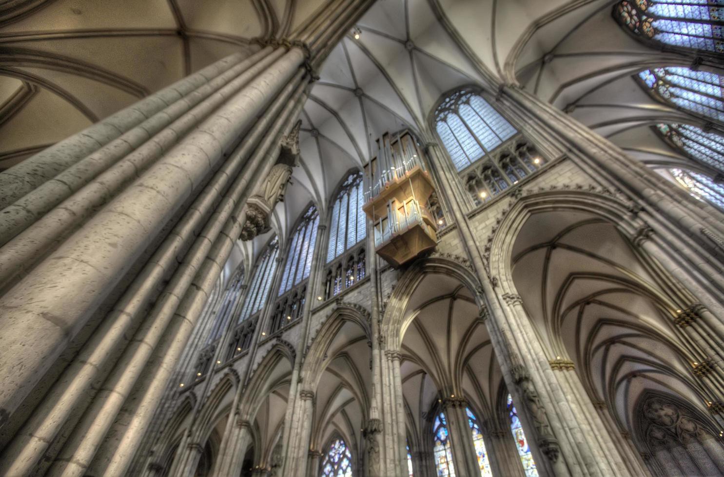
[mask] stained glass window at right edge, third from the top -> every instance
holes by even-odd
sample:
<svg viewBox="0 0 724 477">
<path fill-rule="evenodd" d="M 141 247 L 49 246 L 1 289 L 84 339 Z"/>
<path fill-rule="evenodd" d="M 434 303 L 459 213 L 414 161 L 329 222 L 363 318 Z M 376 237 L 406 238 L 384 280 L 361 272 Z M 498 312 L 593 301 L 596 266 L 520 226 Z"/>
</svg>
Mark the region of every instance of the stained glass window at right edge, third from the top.
<svg viewBox="0 0 724 477">
<path fill-rule="evenodd" d="M 724 172 L 724 137 L 689 124 L 657 124 L 656 128 L 690 158 Z"/>
</svg>

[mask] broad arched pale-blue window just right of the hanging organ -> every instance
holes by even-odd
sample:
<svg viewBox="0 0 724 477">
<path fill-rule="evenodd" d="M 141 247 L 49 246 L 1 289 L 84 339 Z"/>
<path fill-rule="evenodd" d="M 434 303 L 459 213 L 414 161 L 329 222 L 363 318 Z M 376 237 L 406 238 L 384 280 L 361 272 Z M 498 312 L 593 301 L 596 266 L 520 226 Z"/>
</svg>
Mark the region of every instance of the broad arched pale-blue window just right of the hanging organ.
<svg viewBox="0 0 724 477">
<path fill-rule="evenodd" d="M 471 166 L 517 131 L 473 90 L 458 90 L 435 110 L 435 128 L 458 171 Z"/>
</svg>

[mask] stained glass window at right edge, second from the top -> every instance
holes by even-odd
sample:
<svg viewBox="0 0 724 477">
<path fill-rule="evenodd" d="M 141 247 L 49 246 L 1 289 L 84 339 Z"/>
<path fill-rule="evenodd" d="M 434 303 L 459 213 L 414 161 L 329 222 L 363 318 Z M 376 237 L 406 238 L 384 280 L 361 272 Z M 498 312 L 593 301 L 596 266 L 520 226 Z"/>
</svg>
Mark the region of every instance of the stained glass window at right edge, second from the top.
<svg viewBox="0 0 724 477">
<path fill-rule="evenodd" d="M 707 118 L 724 121 L 724 78 L 680 66 L 645 69 L 639 79 L 662 100 Z"/>
</svg>

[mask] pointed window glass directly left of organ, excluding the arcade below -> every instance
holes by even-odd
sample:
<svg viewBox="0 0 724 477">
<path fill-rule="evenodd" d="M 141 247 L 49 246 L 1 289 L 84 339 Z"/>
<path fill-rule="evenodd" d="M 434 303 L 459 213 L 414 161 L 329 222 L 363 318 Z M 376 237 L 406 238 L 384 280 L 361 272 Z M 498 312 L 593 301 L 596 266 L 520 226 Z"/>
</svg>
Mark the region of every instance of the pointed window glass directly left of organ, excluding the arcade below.
<svg viewBox="0 0 724 477">
<path fill-rule="evenodd" d="M 367 218 L 362 210 L 363 203 L 362 173 L 351 173 L 342 184 L 332 206 L 327 262 L 339 257 L 345 250 L 365 238 Z"/>
</svg>

